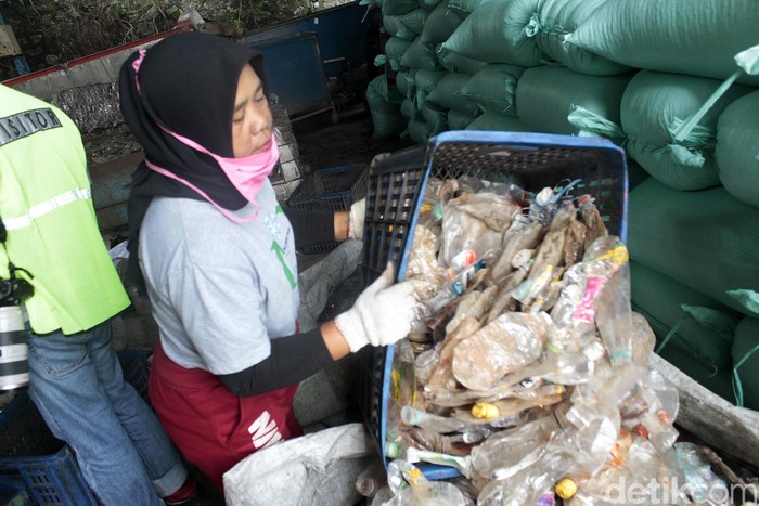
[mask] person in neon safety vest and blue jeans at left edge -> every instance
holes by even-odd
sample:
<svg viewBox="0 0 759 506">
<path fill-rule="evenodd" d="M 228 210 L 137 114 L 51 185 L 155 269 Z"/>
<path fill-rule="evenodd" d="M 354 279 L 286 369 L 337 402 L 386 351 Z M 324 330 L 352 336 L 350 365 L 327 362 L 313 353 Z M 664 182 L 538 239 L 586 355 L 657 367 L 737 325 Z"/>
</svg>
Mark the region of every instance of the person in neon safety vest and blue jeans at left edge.
<svg viewBox="0 0 759 506">
<path fill-rule="evenodd" d="M 0 277 L 14 265 L 34 287 L 24 303 L 29 395 L 76 452 L 97 498 L 120 506 L 198 497 L 111 346 L 110 320 L 129 298 L 98 229 L 79 131 L 61 109 L 2 85 L 0 219 Z"/>
</svg>

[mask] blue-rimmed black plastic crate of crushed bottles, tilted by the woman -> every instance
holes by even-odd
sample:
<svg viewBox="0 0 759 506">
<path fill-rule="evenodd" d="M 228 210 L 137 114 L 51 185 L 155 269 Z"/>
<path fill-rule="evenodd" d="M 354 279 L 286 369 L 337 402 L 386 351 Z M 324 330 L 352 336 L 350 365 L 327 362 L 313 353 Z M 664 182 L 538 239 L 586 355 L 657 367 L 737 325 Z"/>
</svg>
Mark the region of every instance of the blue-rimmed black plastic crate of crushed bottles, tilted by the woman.
<svg viewBox="0 0 759 506">
<path fill-rule="evenodd" d="M 423 157 L 423 158 L 422 158 Z M 404 273 L 413 245 L 421 200 L 429 177 L 472 176 L 498 181 L 516 178 L 528 191 L 582 180 L 610 234 L 627 238 L 627 165 L 625 151 L 605 139 L 500 131 L 449 131 L 386 158 L 370 174 L 362 283 L 369 286 L 387 261 Z M 399 274 L 399 281 L 402 274 Z M 363 351 L 363 350 L 362 350 Z M 360 355 L 364 385 L 362 414 L 386 459 L 386 425 L 395 347 Z M 429 479 L 461 476 L 451 467 L 424 465 Z"/>
</svg>

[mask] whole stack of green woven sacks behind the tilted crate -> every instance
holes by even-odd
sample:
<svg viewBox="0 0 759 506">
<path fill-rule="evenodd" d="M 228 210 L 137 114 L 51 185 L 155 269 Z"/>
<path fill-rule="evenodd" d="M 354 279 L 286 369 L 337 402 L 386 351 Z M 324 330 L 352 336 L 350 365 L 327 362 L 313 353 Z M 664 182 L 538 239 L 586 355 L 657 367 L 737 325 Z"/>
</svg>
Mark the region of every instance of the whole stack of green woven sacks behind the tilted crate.
<svg viewBox="0 0 759 506">
<path fill-rule="evenodd" d="M 754 0 L 374 0 L 395 134 L 599 135 L 630 173 L 634 309 L 660 354 L 759 410 Z M 385 60 L 386 59 L 386 60 Z M 399 119 L 398 119 L 399 118 Z"/>
</svg>

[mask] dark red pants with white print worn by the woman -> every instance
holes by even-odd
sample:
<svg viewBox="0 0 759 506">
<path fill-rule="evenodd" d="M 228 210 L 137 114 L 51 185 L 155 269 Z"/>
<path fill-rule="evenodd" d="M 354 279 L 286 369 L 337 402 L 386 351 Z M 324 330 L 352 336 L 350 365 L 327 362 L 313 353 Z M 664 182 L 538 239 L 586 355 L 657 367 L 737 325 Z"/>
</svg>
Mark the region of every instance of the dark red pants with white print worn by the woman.
<svg viewBox="0 0 759 506">
<path fill-rule="evenodd" d="M 150 399 L 184 458 L 223 491 L 222 475 L 261 447 L 303 434 L 293 413 L 292 386 L 237 397 L 213 374 L 181 367 L 158 342 L 153 353 Z"/>
</svg>

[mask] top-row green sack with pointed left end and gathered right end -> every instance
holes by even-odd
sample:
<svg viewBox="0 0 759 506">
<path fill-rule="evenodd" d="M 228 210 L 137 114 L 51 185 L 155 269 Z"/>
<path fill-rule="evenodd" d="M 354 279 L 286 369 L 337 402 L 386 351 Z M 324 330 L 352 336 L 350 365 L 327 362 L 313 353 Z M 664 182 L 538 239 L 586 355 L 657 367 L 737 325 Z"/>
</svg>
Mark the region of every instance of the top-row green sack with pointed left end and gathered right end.
<svg viewBox="0 0 759 506">
<path fill-rule="evenodd" d="M 538 0 L 486 3 L 469 14 L 442 47 L 487 63 L 540 65 L 540 50 L 527 31 L 537 5 Z"/>
</svg>

